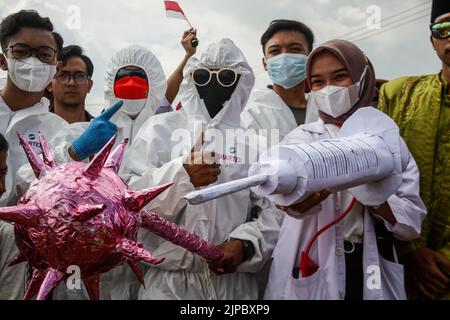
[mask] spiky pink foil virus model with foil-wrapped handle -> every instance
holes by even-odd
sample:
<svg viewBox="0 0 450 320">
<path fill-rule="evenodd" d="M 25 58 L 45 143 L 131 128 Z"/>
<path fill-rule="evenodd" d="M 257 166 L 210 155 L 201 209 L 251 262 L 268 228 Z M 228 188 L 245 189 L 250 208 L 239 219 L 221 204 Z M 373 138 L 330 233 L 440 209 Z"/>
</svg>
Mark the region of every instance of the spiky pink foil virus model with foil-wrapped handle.
<svg viewBox="0 0 450 320">
<path fill-rule="evenodd" d="M 15 224 L 20 254 L 10 266 L 28 262 L 33 273 L 24 299 L 46 299 L 77 266 L 93 300 L 99 299 L 99 276 L 127 263 L 144 285 L 138 261 L 162 262 L 136 241 L 139 227 L 194 252 L 208 261 L 223 254 L 212 244 L 143 208 L 171 184 L 130 191 L 118 176 L 125 140 L 111 153 L 116 137 L 90 164 L 57 166 L 39 134 L 42 159 L 19 133 L 37 177 L 16 207 L 0 208 L 0 220 Z"/>
</svg>

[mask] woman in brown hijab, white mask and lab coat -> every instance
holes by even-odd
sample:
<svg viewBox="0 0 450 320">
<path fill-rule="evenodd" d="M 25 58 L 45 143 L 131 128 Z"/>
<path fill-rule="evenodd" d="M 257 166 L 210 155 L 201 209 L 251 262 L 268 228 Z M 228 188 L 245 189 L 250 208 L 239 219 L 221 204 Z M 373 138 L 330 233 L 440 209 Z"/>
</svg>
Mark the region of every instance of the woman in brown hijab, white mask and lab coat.
<svg viewBox="0 0 450 320">
<path fill-rule="evenodd" d="M 329 41 L 314 50 L 307 77 L 315 104 L 311 107 L 318 108 L 319 120 L 298 127 L 282 144 L 337 137 L 345 120 L 370 106 L 375 93 L 372 64 L 348 41 Z M 426 213 L 414 159 L 409 157 L 402 185 L 382 206 L 365 207 L 355 201 L 347 190 L 324 190 L 293 207 L 280 207 L 288 216 L 273 253 L 266 299 L 406 298 L 403 266 L 397 263 L 393 241 L 418 238 Z M 345 211 L 349 213 L 336 222 Z M 326 231 L 312 241 L 324 227 Z M 304 272 L 308 265 L 300 263 L 307 261 L 300 253 L 308 245 L 310 258 L 318 264 L 310 273 Z"/>
</svg>

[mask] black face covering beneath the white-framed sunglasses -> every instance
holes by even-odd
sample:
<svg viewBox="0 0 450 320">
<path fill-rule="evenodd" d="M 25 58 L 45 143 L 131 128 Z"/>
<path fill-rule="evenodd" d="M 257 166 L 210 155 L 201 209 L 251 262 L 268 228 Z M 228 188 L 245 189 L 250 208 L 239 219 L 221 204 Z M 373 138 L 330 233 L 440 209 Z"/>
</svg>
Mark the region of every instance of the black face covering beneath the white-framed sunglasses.
<svg viewBox="0 0 450 320">
<path fill-rule="evenodd" d="M 223 109 L 225 102 L 231 99 L 239 80 L 240 75 L 234 85 L 231 87 L 224 87 L 217 81 L 217 75 L 213 74 L 211 81 L 206 86 L 201 87 L 196 85 L 198 94 L 205 102 L 206 109 L 208 110 L 211 119 L 214 119 Z"/>
</svg>

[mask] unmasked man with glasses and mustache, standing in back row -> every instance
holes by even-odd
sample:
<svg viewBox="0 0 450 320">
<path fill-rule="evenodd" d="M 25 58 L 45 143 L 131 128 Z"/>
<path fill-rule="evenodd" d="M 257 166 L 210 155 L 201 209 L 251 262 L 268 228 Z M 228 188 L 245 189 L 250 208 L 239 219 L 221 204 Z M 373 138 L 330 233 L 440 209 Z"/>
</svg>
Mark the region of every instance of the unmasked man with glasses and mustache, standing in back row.
<svg viewBox="0 0 450 320">
<path fill-rule="evenodd" d="M 79 46 L 65 47 L 59 54 L 61 70 L 48 91 L 53 96 L 50 111 L 68 123 L 90 122 L 94 117 L 86 111 L 86 96 L 91 92 L 94 65 Z"/>
</svg>

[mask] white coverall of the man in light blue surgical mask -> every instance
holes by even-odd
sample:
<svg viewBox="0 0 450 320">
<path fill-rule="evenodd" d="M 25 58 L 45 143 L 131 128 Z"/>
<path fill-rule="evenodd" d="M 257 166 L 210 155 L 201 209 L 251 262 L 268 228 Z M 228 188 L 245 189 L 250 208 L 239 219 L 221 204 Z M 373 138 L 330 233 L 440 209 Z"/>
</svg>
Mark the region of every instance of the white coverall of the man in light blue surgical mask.
<svg viewBox="0 0 450 320">
<path fill-rule="evenodd" d="M 272 141 L 272 145 L 277 145 L 298 126 L 288 105 L 269 88 L 255 90 L 252 93 L 249 103 L 241 114 L 241 121 L 244 128 L 254 129 L 269 137 L 270 130 L 278 130 L 278 141 Z"/>
</svg>

